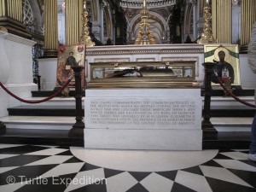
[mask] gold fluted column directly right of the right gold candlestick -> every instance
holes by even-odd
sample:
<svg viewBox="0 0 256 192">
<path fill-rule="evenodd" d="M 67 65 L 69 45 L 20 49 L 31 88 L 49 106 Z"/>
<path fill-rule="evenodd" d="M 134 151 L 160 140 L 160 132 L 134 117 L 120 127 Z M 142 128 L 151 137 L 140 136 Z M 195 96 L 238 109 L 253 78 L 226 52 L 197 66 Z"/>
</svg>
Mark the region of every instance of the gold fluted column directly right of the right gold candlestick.
<svg viewBox="0 0 256 192">
<path fill-rule="evenodd" d="M 214 35 L 218 44 L 231 44 L 231 22 L 232 22 L 232 4 L 231 0 L 215 0 L 212 3 L 215 15 L 212 17 L 214 23 Z M 216 6 L 216 7 L 215 7 Z M 212 15 L 213 16 L 213 15 Z"/>
</svg>

